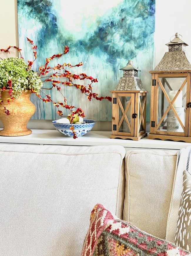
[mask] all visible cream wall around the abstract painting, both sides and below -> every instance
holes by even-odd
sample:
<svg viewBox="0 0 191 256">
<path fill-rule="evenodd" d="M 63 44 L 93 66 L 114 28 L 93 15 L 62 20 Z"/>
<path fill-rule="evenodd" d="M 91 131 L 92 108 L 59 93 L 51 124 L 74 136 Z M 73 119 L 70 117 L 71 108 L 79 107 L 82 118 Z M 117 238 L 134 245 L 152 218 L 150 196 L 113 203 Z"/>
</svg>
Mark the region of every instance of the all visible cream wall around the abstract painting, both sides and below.
<svg viewBox="0 0 191 256">
<path fill-rule="evenodd" d="M 0 0 L 0 48 L 6 48 L 9 45 L 18 46 L 16 2 L 16 0 Z M 190 0 L 156 0 L 155 66 L 168 51 L 165 43 L 168 43 L 170 37 L 176 32 L 179 32 L 183 36 L 183 41 L 189 45 L 187 52 L 191 56 L 190 10 Z M 10 56 L 16 55 L 16 51 L 11 50 Z M 28 126 L 29 128 L 53 128 L 48 120 L 31 120 Z M 94 130 L 111 130 L 111 122 L 97 122 Z"/>
</svg>

